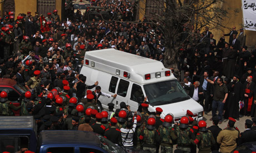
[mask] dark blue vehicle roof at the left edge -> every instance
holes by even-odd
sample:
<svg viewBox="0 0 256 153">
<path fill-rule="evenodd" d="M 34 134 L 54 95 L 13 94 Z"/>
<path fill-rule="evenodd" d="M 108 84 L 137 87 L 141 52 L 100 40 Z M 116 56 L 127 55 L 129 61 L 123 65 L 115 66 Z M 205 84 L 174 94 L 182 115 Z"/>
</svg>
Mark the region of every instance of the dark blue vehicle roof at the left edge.
<svg viewBox="0 0 256 153">
<path fill-rule="evenodd" d="M 33 116 L 0 116 L 0 130 L 34 129 L 35 126 Z"/>
</svg>

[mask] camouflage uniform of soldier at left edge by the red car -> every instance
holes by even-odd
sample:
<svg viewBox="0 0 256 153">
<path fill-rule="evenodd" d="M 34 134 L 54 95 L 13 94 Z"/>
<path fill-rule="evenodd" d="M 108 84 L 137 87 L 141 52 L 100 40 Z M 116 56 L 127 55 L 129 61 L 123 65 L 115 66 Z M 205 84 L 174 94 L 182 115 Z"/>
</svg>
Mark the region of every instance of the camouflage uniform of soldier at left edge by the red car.
<svg viewBox="0 0 256 153">
<path fill-rule="evenodd" d="M 0 102 L 0 116 L 13 116 L 12 110 L 17 111 L 21 106 L 14 106 L 11 101 Z"/>
</svg>

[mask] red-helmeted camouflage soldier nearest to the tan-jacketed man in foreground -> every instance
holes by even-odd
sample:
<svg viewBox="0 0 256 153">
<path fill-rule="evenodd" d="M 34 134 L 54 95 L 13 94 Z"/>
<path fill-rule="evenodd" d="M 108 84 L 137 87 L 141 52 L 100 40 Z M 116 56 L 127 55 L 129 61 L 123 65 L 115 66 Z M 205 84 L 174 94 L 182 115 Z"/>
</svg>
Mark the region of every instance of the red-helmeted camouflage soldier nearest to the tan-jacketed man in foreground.
<svg viewBox="0 0 256 153">
<path fill-rule="evenodd" d="M 198 123 L 199 132 L 196 135 L 195 140 L 191 140 L 191 143 L 198 145 L 199 153 L 211 152 L 211 146 L 215 144 L 213 134 L 210 130 L 206 129 L 206 122 L 201 120 Z"/>
</svg>

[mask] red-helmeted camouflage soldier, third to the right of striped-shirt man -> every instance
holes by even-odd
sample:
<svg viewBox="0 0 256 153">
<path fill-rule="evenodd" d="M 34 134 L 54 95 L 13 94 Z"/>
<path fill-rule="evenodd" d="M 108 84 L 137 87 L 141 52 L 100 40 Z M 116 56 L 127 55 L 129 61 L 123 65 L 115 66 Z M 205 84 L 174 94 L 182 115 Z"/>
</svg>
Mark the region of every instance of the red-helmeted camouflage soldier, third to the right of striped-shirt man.
<svg viewBox="0 0 256 153">
<path fill-rule="evenodd" d="M 184 151 L 185 153 L 190 153 L 191 142 L 190 140 L 195 140 L 195 135 L 193 130 L 189 127 L 189 117 L 183 116 L 180 119 L 180 125 L 175 126 L 175 135 L 177 138 L 178 149 Z"/>
</svg>

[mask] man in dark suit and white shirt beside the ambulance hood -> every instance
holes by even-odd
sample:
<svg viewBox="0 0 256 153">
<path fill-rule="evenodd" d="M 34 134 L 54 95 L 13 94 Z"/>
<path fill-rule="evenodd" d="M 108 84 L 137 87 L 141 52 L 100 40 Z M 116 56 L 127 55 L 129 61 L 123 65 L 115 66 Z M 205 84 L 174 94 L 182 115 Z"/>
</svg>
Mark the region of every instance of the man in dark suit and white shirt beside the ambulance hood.
<svg viewBox="0 0 256 153">
<path fill-rule="evenodd" d="M 195 81 L 195 85 L 191 85 L 190 87 L 185 88 L 189 88 L 189 96 L 193 98 L 193 100 L 199 102 L 200 105 L 204 106 L 204 92 L 203 88 L 200 86 L 199 81 Z"/>
</svg>

